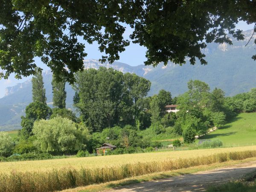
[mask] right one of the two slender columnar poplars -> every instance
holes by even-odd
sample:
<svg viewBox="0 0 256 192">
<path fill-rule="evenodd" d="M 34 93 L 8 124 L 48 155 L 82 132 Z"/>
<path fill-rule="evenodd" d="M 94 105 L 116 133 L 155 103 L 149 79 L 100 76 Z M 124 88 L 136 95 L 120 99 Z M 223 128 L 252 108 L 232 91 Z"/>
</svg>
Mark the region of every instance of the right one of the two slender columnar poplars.
<svg viewBox="0 0 256 192">
<path fill-rule="evenodd" d="M 53 106 L 60 109 L 66 108 L 67 92 L 65 91 L 65 81 L 52 76 L 52 102 Z"/>
</svg>

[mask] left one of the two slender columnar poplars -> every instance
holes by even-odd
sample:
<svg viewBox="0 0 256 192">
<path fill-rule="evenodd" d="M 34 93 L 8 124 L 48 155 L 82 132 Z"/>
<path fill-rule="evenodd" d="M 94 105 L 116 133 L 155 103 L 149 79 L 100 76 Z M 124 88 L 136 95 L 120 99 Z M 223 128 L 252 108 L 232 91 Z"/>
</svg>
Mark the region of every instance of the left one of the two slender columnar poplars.
<svg viewBox="0 0 256 192">
<path fill-rule="evenodd" d="M 39 68 L 36 68 L 35 75 L 32 77 L 32 99 L 33 102 L 46 104 L 44 80 L 42 71 Z"/>
</svg>

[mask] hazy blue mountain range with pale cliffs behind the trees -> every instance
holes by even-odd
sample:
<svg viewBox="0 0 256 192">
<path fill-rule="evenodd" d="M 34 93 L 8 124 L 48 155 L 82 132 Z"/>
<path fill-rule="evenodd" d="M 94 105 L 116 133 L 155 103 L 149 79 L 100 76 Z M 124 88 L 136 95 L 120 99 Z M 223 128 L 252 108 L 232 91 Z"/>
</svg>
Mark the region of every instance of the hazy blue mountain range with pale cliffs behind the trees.
<svg viewBox="0 0 256 192">
<path fill-rule="evenodd" d="M 123 73 L 136 73 L 151 81 L 151 90 L 148 95 L 154 95 L 159 90 L 165 89 L 177 96 L 187 90 L 187 81 L 199 79 L 209 84 L 211 89 L 218 87 L 224 90 L 226 96 L 249 91 L 256 87 L 256 61 L 251 58 L 256 54 L 254 39 L 245 47 L 253 30 L 244 32 L 244 41 L 232 39 L 233 45 L 215 44 L 207 45 L 203 50 L 208 64 L 190 65 L 189 62 L 180 66 L 169 63 L 166 66 L 159 64 L 157 67 L 138 65 L 132 67 L 128 64 L 114 62 L 100 63 L 97 60 L 84 60 L 84 68 L 112 67 Z M 136 55 L 134 55 L 136 57 Z M 52 73 L 44 71 L 44 86 L 46 89 L 47 103 L 52 105 Z M 74 91 L 70 84 L 66 85 L 67 108 L 73 108 Z M 0 99 L 0 130 L 20 128 L 20 116 L 24 114 L 26 106 L 32 102 L 31 79 L 6 88 L 6 94 Z"/>
</svg>

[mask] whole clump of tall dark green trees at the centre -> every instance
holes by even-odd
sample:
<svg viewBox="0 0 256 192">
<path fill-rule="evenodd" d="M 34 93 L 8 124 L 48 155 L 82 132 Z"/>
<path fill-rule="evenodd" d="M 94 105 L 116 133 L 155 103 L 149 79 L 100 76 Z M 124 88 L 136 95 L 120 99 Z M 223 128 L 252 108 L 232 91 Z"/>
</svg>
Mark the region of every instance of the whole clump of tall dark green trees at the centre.
<svg viewBox="0 0 256 192">
<path fill-rule="evenodd" d="M 93 131 L 114 125 L 134 125 L 135 121 L 143 124 L 141 99 L 147 95 L 150 85 L 142 77 L 112 68 L 84 70 L 76 74 L 73 85 L 75 107 Z"/>
</svg>

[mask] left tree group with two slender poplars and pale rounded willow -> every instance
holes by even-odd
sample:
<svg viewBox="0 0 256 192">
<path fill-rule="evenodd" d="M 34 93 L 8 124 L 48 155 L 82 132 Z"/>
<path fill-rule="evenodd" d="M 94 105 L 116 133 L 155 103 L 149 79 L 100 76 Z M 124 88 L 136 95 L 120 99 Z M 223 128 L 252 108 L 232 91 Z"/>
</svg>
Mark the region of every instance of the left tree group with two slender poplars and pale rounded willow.
<svg viewBox="0 0 256 192">
<path fill-rule="evenodd" d="M 79 124 L 75 113 L 66 109 L 65 81 L 52 78 L 53 106 L 47 106 L 44 81 L 37 69 L 32 78 L 32 99 L 21 117 L 20 136 L 15 146 L 19 153 L 41 151 L 58 154 L 84 150 L 90 137 L 88 129 Z"/>
</svg>

